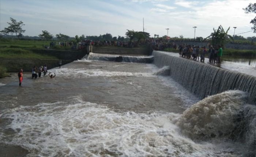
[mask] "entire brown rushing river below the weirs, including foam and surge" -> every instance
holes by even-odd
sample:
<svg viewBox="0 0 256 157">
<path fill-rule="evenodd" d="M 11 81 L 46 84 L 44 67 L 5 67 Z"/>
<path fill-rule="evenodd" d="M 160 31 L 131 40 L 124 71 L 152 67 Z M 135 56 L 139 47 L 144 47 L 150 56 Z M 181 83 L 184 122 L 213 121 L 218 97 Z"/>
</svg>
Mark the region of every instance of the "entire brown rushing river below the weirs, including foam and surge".
<svg viewBox="0 0 256 157">
<path fill-rule="evenodd" d="M 249 94 L 234 90 L 200 101 L 169 76 L 171 68 L 80 60 L 49 70 L 53 79 L 25 73 L 22 87 L 16 74 L 0 80 L 0 153 L 255 156 Z"/>
</svg>

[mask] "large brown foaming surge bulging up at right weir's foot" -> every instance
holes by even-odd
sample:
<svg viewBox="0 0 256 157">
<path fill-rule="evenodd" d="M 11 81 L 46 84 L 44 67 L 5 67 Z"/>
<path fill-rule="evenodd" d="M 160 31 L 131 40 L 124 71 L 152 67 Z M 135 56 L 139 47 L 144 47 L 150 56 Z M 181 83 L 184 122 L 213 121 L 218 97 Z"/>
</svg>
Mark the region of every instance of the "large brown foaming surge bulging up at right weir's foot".
<svg viewBox="0 0 256 157">
<path fill-rule="evenodd" d="M 184 111 L 177 125 L 193 139 L 230 138 L 246 97 L 245 92 L 236 90 L 204 98 Z"/>
</svg>

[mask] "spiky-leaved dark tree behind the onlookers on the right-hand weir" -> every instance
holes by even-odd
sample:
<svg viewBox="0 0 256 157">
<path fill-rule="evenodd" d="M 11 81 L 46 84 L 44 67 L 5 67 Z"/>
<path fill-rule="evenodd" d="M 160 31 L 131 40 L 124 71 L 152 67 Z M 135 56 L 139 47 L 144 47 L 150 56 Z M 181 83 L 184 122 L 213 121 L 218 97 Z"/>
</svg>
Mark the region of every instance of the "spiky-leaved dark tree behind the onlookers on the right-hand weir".
<svg viewBox="0 0 256 157">
<path fill-rule="evenodd" d="M 207 36 L 207 38 L 211 39 L 211 44 L 213 46 L 222 46 L 224 48 L 225 43 L 229 41 L 230 39 L 233 40 L 231 35 L 228 35 L 227 32 L 229 31 L 230 27 L 225 31 L 221 25 L 219 25 L 218 30 L 215 30 L 213 28 L 213 31 L 210 36 Z"/>
</svg>

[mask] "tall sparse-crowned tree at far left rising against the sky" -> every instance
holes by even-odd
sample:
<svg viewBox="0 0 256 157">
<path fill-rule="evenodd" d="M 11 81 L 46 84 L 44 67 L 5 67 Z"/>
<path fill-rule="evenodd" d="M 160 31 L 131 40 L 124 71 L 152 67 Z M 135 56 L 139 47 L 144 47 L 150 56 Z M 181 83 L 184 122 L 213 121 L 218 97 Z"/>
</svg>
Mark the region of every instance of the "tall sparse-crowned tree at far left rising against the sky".
<svg viewBox="0 0 256 157">
<path fill-rule="evenodd" d="M 8 35 L 8 34 L 13 35 L 15 33 L 15 35 L 19 38 L 20 34 L 25 32 L 25 30 L 22 30 L 22 25 L 25 25 L 25 24 L 23 24 L 22 21 L 17 22 L 15 19 L 11 17 L 10 17 L 10 20 L 11 22 L 7 22 L 9 24 L 9 27 L 4 28 L 4 30 L 1 30 L 0 33 L 4 35 Z"/>
</svg>

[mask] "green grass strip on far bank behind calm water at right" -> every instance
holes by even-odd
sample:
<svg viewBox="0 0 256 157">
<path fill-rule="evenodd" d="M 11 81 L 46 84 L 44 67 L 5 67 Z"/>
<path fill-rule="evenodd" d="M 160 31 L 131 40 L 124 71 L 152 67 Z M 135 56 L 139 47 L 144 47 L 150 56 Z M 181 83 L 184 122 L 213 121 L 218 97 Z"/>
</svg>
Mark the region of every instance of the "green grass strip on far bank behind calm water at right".
<svg viewBox="0 0 256 157">
<path fill-rule="evenodd" d="M 223 56 L 245 56 L 245 57 L 256 57 L 256 50 L 234 50 L 225 48 L 222 51 Z"/>
</svg>

